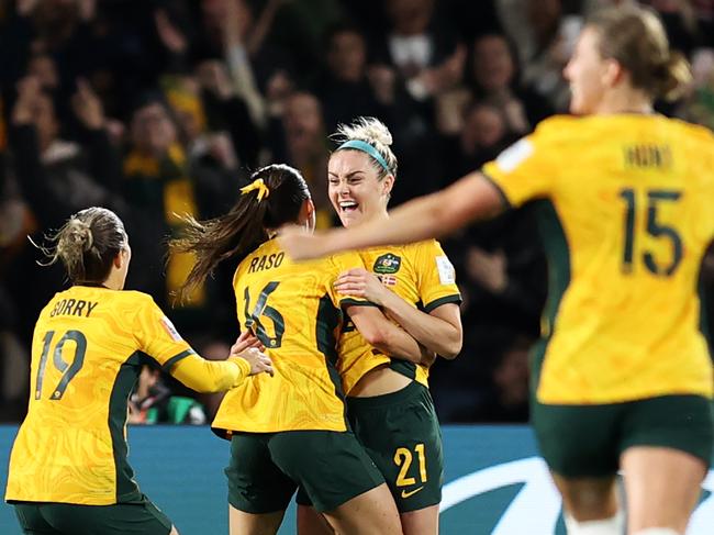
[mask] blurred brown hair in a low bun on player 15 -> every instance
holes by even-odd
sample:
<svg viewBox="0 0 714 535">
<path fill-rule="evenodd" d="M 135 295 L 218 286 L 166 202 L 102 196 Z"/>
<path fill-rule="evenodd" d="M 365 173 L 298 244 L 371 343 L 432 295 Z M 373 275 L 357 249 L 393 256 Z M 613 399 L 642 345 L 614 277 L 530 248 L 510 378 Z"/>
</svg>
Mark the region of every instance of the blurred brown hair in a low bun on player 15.
<svg viewBox="0 0 714 535">
<path fill-rule="evenodd" d="M 587 22 L 600 34 L 600 55 L 620 63 L 633 87 L 651 98 L 674 100 L 690 82 L 687 58 L 670 51 L 657 12 L 635 4 L 607 8 Z"/>
</svg>

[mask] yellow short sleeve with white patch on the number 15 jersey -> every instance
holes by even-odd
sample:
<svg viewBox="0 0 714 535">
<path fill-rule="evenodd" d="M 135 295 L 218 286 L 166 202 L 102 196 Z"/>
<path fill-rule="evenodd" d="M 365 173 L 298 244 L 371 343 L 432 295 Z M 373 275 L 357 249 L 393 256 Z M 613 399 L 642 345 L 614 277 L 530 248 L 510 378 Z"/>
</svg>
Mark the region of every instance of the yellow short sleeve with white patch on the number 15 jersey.
<svg viewBox="0 0 714 535">
<path fill-rule="evenodd" d="M 558 159 L 554 125 L 542 123 L 536 131 L 503 151 L 481 169 L 512 207 L 548 197 L 556 183 Z"/>
</svg>

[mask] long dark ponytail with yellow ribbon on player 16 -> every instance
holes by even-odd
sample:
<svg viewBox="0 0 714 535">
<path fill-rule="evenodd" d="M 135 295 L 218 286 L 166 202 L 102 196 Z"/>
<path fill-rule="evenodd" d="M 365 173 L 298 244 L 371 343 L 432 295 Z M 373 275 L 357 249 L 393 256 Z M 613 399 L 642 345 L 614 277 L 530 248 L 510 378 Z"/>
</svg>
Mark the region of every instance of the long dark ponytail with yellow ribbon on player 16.
<svg viewBox="0 0 714 535">
<path fill-rule="evenodd" d="M 169 247 L 177 253 L 193 253 L 196 264 L 178 290 L 179 299 L 187 299 L 221 261 L 242 260 L 267 242 L 274 230 L 297 223 L 303 202 L 310 199 L 300 171 L 287 165 L 263 167 L 250 180 L 226 214 L 208 221 L 182 218 L 183 235 L 170 239 Z"/>
</svg>

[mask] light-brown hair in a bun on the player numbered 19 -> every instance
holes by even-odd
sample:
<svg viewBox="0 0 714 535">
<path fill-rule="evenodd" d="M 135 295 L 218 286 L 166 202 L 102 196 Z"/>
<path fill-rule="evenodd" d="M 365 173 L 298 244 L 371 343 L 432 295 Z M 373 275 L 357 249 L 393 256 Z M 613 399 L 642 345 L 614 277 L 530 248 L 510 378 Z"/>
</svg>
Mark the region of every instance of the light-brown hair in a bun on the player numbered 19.
<svg viewBox="0 0 714 535">
<path fill-rule="evenodd" d="M 92 207 L 77 212 L 55 234 L 45 236 L 52 245 L 33 245 L 47 257 L 41 266 L 60 260 L 72 283 L 102 283 L 112 263 L 126 246 L 126 231 L 119 216 L 105 208 Z"/>
</svg>

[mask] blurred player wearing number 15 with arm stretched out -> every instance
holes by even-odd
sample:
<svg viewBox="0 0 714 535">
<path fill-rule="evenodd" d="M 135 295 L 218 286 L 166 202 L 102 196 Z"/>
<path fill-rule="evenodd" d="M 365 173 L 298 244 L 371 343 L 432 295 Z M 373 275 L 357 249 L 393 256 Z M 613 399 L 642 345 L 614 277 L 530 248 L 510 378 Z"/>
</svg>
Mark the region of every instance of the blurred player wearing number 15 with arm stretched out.
<svg viewBox="0 0 714 535">
<path fill-rule="evenodd" d="M 689 76 L 657 15 L 585 24 L 565 69 L 571 111 L 481 172 L 378 221 L 285 234 L 294 258 L 414 242 L 537 200 L 550 260 L 533 354 L 533 423 L 570 534 L 683 534 L 712 455 L 712 361 L 700 263 L 714 236 L 714 136 L 652 112 Z"/>
</svg>

